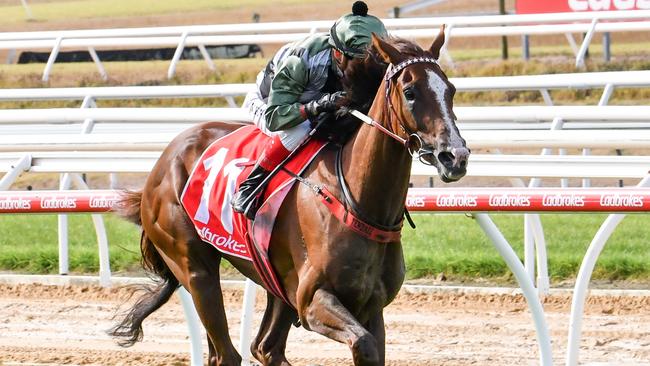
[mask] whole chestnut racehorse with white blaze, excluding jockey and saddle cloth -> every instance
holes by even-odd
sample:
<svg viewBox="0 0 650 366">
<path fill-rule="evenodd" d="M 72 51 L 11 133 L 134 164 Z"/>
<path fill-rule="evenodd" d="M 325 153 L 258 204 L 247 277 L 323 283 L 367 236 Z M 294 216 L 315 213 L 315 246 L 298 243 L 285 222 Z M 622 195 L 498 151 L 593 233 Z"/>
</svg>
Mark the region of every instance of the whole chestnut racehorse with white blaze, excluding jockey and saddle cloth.
<svg viewBox="0 0 650 366">
<path fill-rule="evenodd" d="M 335 149 L 325 149 L 303 174 L 341 200 L 347 197 L 353 211 L 376 227 L 402 223 L 412 153 L 435 165 L 446 182 L 465 175 L 469 150 L 455 125 L 455 90 L 435 61 L 443 43 L 444 28 L 428 50 L 373 35 L 368 57 L 353 61 L 360 64 L 351 69 L 383 65 L 380 70 L 386 71 L 385 76 L 363 84 L 351 82 L 351 77 L 346 80 L 346 73 L 343 84 L 347 81 L 352 89 L 357 85 L 370 91 L 374 101 L 366 110 L 370 106 L 368 116 L 379 126 L 362 124 L 339 150 L 339 162 Z M 124 215 L 142 225 L 143 265 L 161 281 L 112 330 L 123 338 L 123 345 L 141 339 L 143 320 L 182 285 L 192 295 L 207 331 L 208 363 L 240 365 L 241 356 L 228 336 L 219 281 L 221 258 L 258 284 L 262 281 L 251 262 L 202 242 L 180 202 L 204 149 L 239 127 L 212 122 L 184 131 L 162 153 L 144 189 L 125 195 Z M 345 178 L 337 178 L 337 170 Z M 286 340 L 291 324 L 299 320 L 306 329 L 347 344 L 354 365 L 383 365 L 383 308 L 404 280 L 401 242 L 379 243 L 352 231 L 303 184 L 296 184 L 287 195 L 271 242 L 271 262 L 290 303 L 267 295 L 259 333 L 251 345 L 253 356 L 264 365 L 290 365 L 284 354 Z"/>
</svg>

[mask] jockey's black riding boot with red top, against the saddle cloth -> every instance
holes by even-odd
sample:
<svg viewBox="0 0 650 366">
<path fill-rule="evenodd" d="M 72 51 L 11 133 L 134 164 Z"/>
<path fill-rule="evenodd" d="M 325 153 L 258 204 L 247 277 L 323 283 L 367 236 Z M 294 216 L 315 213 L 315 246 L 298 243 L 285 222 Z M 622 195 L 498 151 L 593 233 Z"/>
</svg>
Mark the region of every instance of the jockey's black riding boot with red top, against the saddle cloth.
<svg viewBox="0 0 650 366">
<path fill-rule="evenodd" d="M 262 151 L 255 167 L 251 170 L 248 178 L 239 185 L 239 190 L 232 199 L 232 208 L 235 212 L 243 213 L 249 220 L 255 219 L 255 213 L 259 208 L 258 197 L 263 188 L 253 194 L 257 186 L 271 173 L 271 171 L 289 155 L 288 151 L 280 141 L 279 136 L 273 136 Z"/>
</svg>

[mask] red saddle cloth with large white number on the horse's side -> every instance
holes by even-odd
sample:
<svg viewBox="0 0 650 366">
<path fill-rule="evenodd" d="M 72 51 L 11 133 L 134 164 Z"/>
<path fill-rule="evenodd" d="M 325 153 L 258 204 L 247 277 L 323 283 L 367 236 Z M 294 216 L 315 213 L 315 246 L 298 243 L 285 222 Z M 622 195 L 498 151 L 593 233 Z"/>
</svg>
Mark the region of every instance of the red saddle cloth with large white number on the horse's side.
<svg viewBox="0 0 650 366">
<path fill-rule="evenodd" d="M 281 170 L 271 179 L 253 225 L 230 204 L 269 140 L 257 127 L 246 126 L 214 141 L 196 162 L 181 202 L 203 241 L 225 254 L 252 261 L 267 289 L 286 301 L 268 248 L 275 217 L 295 178 Z M 325 141 L 309 141 L 285 168 L 300 174 L 325 145 Z"/>
</svg>

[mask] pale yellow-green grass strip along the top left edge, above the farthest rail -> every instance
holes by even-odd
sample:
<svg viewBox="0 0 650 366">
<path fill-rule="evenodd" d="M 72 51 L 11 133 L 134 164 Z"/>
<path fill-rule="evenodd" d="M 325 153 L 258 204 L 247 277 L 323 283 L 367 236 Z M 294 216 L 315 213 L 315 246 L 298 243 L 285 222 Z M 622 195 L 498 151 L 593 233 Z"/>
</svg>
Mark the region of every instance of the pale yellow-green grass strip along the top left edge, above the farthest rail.
<svg viewBox="0 0 650 366">
<path fill-rule="evenodd" d="M 281 6 L 304 2 L 300 0 L 274 1 Z M 15 3 L 17 5 L 0 7 L 2 21 L 5 24 L 21 23 L 28 20 L 22 5 L 18 1 Z M 263 0 L 75 0 L 35 3 L 30 4 L 29 8 L 35 20 L 52 21 L 65 20 L 71 16 L 74 16 L 75 19 L 111 18 L 228 10 L 240 7 L 254 9 L 255 6 L 266 3 Z"/>
</svg>

